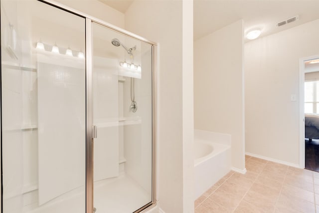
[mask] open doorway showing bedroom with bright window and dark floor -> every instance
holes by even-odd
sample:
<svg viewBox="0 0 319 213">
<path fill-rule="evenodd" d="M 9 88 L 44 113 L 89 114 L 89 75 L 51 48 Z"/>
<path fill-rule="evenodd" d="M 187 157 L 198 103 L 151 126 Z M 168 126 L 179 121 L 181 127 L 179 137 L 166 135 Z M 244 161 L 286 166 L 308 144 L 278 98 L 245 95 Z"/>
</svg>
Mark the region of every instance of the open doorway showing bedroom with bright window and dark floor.
<svg viewBox="0 0 319 213">
<path fill-rule="evenodd" d="M 304 61 L 305 168 L 319 172 L 319 58 Z"/>
</svg>

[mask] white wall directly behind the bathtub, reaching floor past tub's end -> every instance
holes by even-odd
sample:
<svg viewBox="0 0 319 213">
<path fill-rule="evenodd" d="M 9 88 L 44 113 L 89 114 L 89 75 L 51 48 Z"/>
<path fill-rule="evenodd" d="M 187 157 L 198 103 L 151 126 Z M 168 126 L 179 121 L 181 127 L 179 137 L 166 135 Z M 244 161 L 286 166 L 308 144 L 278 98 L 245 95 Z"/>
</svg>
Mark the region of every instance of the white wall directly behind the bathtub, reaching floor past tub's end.
<svg viewBox="0 0 319 213">
<path fill-rule="evenodd" d="M 230 134 L 232 167 L 245 169 L 243 21 L 194 42 L 195 129 Z"/>
</svg>

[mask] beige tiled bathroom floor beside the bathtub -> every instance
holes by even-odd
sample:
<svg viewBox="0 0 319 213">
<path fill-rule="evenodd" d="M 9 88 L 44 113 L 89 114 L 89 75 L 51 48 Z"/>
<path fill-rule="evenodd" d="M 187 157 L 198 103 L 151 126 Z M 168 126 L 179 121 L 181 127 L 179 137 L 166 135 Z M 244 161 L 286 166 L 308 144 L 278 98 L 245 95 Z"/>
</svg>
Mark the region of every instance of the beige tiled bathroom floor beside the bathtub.
<svg viewBox="0 0 319 213">
<path fill-rule="evenodd" d="M 195 201 L 195 213 L 319 213 L 319 173 L 246 156 Z"/>
</svg>

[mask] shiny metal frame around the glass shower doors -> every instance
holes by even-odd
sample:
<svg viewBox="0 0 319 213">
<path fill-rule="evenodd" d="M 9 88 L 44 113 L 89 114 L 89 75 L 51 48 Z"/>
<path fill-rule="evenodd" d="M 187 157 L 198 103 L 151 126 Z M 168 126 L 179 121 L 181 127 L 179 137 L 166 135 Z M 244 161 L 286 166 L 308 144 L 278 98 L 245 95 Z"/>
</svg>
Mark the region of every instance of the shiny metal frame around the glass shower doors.
<svg viewBox="0 0 319 213">
<path fill-rule="evenodd" d="M 93 213 L 93 126 L 92 126 L 92 115 L 93 115 L 93 109 L 92 109 L 92 70 L 93 70 L 93 63 L 92 63 L 92 50 L 93 50 L 93 36 L 92 36 L 92 22 L 101 24 L 105 26 L 106 28 L 109 28 L 111 30 L 120 32 L 122 34 L 125 34 L 129 37 L 138 39 L 140 41 L 143 41 L 145 43 L 152 45 L 152 201 L 145 206 L 141 207 L 140 209 L 136 210 L 133 213 L 139 213 L 142 211 L 149 210 L 156 206 L 156 100 L 157 100 L 157 92 L 156 92 L 156 70 L 155 70 L 155 48 L 157 46 L 157 43 L 150 41 L 144 37 L 141 37 L 139 35 L 136 35 L 132 32 L 129 32 L 125 29 L 122 29 L 120 27 L 117 27 L 113 24 L 110 24 L 106 21 L 103 21 L 101 19 L 98 19 L 96 17 L 93 17 L 91 15 L 88 15 L 84 12 L 78 11 L 76 9 L 73 9 L 72 7 L 65 6 L 64 4 L 58 3 L 54 0 L 38 0 L 43 3 L 49 4 L 51 6 L 54 6 L 56 8 L 65 10 L 67 12 L 73 13 L 75 15 L 81 16 L 85 18 L 85 66 L 86 66 L 86 213 Z M 1 59 L 1 54 L 0 54 Z M 2 100 L 1 100 L 2 101 Z M 2 124 L 2 110 L 0 112 L 0 119 Z M 1 125 L 1 133 L 2 133 L 2 125 Z M 1 175 L 2 175 L 2 134 L 1 137 Z M 1 178 L 1 213 L 3 212 L 3 183 Z"/>
</svg>

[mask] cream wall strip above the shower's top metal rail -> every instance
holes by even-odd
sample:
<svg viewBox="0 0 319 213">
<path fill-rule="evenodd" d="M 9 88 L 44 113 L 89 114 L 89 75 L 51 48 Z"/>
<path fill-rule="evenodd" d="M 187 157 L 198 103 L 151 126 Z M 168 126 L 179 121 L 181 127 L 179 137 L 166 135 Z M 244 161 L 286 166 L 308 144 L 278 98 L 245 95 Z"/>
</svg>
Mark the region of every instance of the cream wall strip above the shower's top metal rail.
<svg viewBox="0 0 319 213">
<path fill-rule="evenodd" d="M 55 0 L 66 6 L 124 28 L 124 14 L 98 0 Z"/>
</svg>

